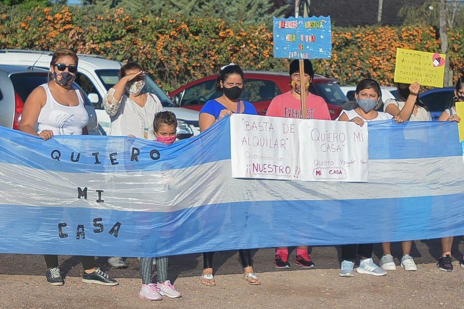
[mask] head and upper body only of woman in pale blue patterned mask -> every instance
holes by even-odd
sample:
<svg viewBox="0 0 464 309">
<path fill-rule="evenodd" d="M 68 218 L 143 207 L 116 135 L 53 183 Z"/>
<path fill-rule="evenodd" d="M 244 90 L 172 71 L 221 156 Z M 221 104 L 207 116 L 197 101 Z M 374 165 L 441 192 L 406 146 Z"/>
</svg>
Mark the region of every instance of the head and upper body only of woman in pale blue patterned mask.
<svg viewBox="0 0 464 309">
<path fill-rule="evenodd" d="M 404 122 L 400 115 L 392 116 L 376 110 L 382 104 L 382 93 L 379 83 L 371 78 L 363 79 L 357 84 L 355 99 L 357 107 L 352 110 L 342 110 L 337 118 L 338 121 L 351 121 L 361 127 L 365 121 L 394 118 L 397 123 Z"/>
</svg>

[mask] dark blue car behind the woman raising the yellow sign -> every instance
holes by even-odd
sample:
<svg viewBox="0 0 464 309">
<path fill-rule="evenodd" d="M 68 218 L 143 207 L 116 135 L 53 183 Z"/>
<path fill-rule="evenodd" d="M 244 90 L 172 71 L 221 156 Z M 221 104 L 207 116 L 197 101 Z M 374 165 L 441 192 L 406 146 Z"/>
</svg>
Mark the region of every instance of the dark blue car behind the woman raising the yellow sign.
<svg viewBox="0 0 464 309">
<path fill-rule="evenodd" d="M 445 109 L 451 107 L 453 97 L 454 87 L 433 88 L 419 94 L 419 99 L 428 107 L 434 121 L 438 120 Z"/>
</svg>

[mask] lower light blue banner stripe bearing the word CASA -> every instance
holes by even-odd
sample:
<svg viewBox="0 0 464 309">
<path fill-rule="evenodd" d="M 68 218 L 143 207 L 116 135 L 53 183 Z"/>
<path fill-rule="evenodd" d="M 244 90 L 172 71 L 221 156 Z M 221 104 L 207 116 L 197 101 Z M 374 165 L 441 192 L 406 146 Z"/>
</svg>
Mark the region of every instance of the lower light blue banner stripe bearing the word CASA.
<svg viewBox="0 0 464 309">
<path fill-rule="evenodd" d="M 0 206 L 1 253 L 160 256 L 464 235 L 464 194 L 340 201 L 262 201 L 174 212 Z M 445 207 L 446 206 L 446 207 Z M 27 215 L 24 215 L 27 214 Z M 95 218 L 103 224 L 94 226 Z M 118 237 L 109 231 L 121 223 Z M 58 224 L 67 223 L 58 235 Z M 83 225 L 85 239 L 76 239 Z M 80 229 L 81 231 L 81 229 Z"/>
</svg>

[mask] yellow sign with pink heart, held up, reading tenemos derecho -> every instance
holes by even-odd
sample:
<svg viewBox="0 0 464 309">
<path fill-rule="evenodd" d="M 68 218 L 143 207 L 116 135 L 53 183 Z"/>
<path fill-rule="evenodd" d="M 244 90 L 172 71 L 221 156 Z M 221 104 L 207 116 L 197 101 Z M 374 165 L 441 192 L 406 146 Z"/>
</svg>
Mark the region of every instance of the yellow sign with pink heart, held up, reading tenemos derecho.
<svg viewBox="0 0 464 309">
<path fill-rule="evenodd" d="M 444 54 L 396 48 L 394 81 L 442 88 L 445 59 Z"/>
</svg>

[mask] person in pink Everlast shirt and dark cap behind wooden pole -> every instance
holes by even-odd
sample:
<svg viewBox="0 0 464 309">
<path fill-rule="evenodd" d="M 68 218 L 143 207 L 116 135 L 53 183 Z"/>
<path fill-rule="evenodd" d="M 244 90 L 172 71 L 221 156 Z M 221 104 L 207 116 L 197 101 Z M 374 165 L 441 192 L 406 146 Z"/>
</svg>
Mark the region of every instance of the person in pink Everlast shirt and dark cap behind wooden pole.
<svg viewBox="0 0 464 309">
<path fill-rule="evenodd" d="M 314 78 L 313 64 L 308 59 L 304 60 L 304 87 L 306 89 L 306 115 L 308 119 L 330 120 L 330 113 L 324 99 L 310 93 L 309 85 Z M 290 64 L 290 85 L 291 90 L 283 93 L 274 99 L 266 112 L 266 116 L 284 117 L 284 118 L 303 118 L 301 116 L 301 80 L 300 64 L 295 59 Z M 303 268 L 314 268 L 314 262 L 308 254 L 308 246 L 296 247 L 295 264 Z M 290 268 L 288 263 L 288 248 L 279 247 L 276 249 L 274 266 L 277 269 Z"/>
</svg>

